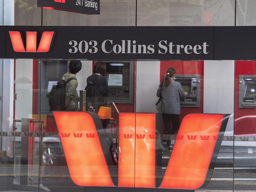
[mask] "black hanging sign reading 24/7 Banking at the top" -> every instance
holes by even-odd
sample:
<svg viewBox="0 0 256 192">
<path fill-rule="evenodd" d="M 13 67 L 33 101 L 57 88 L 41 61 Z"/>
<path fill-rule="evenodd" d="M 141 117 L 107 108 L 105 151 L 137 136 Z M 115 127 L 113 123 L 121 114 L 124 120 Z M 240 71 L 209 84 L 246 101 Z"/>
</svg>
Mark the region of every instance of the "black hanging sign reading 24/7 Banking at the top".
<svg viewBox="0 0 256 192">
<path fill-rule="evenodd" d="M 37 7 L 89 15 L 100 14 L 100 0 L 37 0 Z"/>
</svg>

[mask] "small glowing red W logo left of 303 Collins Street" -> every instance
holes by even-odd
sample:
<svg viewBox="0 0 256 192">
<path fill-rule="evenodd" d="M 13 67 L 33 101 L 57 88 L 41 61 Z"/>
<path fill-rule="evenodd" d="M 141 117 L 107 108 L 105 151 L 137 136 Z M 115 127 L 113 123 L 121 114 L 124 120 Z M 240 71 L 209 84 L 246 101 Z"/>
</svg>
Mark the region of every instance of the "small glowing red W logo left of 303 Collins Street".
<svg viewBox="0 0 256 192">
<path fill-rule="evenodd" d="M 9 31 L 11 38 L 11 44 L 13 45 L 13 50 L 15 52 L 30 52 L 30 53 L 46 53 L 49 52 L 52 47 L 52 42 L 54 39 L 54 31 L 45 31 L 42 37 L 37 42 L 37 31 L 27 31 L 26 32 L 26 49 L 24 46 L 24 41 L 20 31 Z"/>
</svg>

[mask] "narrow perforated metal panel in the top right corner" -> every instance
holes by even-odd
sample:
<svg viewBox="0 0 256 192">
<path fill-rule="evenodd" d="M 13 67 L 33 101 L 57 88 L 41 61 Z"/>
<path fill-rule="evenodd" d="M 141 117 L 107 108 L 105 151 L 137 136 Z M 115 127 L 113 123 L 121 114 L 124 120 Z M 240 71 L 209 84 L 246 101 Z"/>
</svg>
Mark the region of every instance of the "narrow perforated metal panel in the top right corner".
<svg viewBox="0 0 256 192">
<path fill-rule="evenodd" d="M 237 0 L 236 3 L 236 25 L 256 25 L 256 0 Z"/>
</svg>

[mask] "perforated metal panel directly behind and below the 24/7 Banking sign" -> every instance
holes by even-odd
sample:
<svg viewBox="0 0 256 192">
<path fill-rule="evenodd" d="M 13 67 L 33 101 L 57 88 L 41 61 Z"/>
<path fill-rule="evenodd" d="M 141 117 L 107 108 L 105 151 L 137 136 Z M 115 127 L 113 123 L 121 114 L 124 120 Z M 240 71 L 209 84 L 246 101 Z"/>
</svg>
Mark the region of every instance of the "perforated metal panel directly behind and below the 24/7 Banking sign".
<svg viewBox="0 0 256 192">
<path fill-rule="evenodd" d="M 101 0 L 100 15 L 43 10 L 47 26 L 135 26 L 135 0 Z"/>
</svg>

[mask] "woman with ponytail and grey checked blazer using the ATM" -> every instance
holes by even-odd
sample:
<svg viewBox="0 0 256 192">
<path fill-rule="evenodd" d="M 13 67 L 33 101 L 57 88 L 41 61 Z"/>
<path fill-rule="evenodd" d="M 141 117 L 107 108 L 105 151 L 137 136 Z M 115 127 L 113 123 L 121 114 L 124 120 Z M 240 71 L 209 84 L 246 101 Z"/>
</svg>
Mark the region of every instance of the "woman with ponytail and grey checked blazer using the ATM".
<svg viewBox="0 0 256 192">
<path fill-rule="evenodd" d="M 180 83 L 174 81 L 176 70 L 167 69 L 165 82 L 159 85 L 156 95 L 162 97 L 156 109 L 163 113 L 163 123 L 165 134 L 175 134 L 180 127 L 180 97 L 185 98 L 187 93 L 182 90 Z M 162 87 L 162 89 L 161 89 Z M 171 122 L 173 129 L 171 130 Z M 169 146 L 170 140 L 167 140 Z"/>
</svg>

